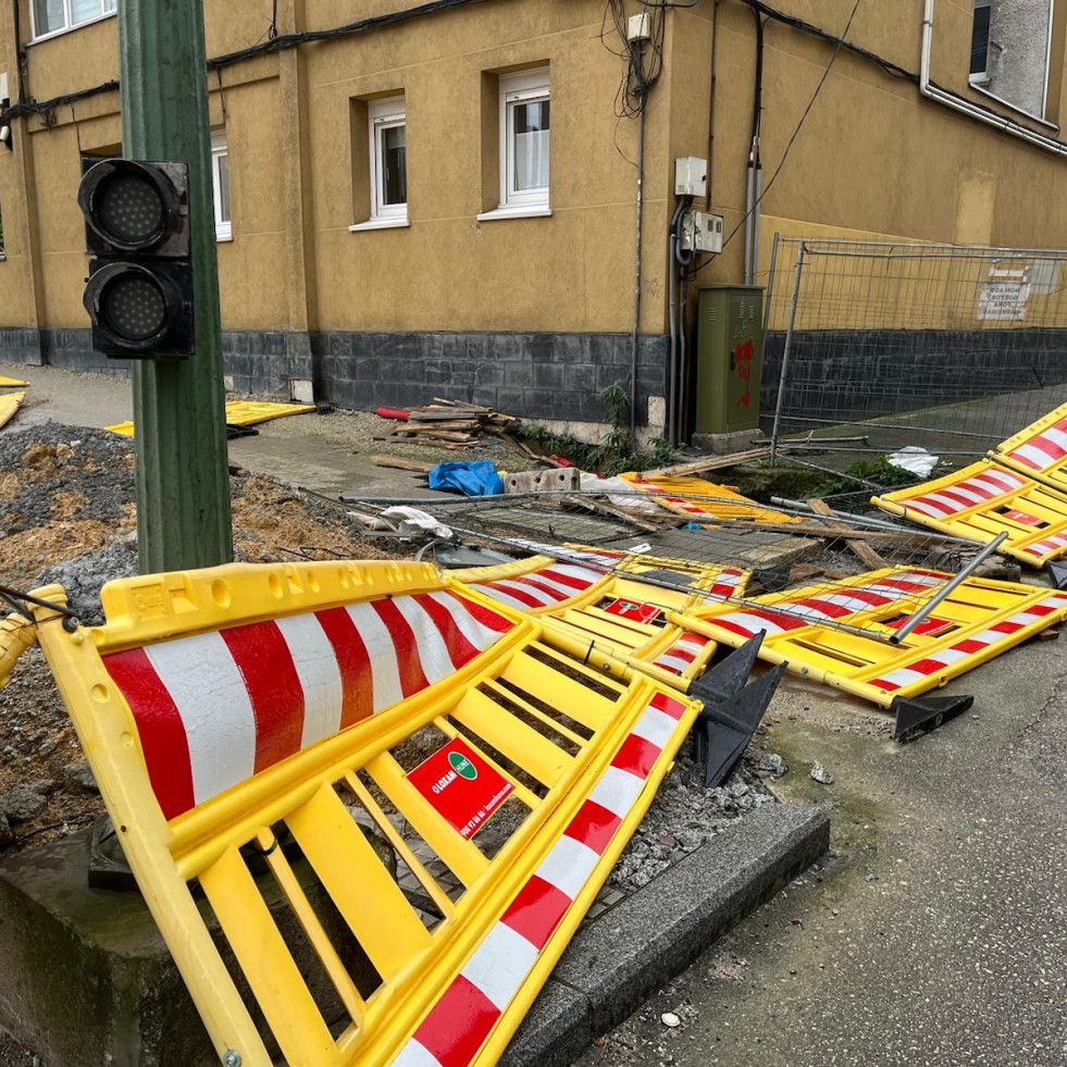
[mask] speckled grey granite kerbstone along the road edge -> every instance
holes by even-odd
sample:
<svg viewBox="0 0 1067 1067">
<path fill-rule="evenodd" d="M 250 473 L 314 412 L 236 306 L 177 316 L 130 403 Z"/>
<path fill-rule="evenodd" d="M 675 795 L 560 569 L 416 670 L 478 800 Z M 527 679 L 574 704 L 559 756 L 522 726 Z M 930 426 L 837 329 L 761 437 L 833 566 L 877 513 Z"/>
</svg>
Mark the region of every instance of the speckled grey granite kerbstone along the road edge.
<svg viewBox="0 0 1067 1067">
<path fill-rule="evenodd" d="M 567 1067 L 829 845 L 817 808 L 767 805 L 587 922 L 500 1067 Z"/>
</svg>

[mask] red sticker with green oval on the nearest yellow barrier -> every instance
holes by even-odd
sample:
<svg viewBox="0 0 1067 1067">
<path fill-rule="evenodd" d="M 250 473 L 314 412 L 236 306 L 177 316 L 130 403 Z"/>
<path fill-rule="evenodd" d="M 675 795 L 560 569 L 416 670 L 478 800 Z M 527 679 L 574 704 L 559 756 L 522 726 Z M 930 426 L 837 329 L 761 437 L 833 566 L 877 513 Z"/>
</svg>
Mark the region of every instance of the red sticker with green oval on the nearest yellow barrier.
<svg viewBox="0 0 1067 1067">
<path fill-rule="evenodd" d="M 459 737 L 424 759 L 408 774 L 408 781 L 464 839 L 477 833 L 514 792 L 499 771 Z"/>
</svg>

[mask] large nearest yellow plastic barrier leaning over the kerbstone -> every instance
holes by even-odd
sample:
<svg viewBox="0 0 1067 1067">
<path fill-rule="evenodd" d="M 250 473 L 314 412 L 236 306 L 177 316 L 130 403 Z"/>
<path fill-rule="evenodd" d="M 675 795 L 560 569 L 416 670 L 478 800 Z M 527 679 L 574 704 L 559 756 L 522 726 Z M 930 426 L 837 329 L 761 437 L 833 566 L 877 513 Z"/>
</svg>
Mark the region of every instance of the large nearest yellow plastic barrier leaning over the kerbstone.
<svg viewBox="0 0 1067 1067">
<path fill-rule="evenodd" d="M 195 885 L 289 1067 L 496 1063 L 699 705 L 566 659 L 535 619 L 429 564 L 232 564 L 101 598 L 107 625 L 38 626 L 41 648 L 220 1058 L 272 1062 Z M 308 878 L 371 977 L 327 936 Z M 268 906 L 278 893 L 339 1026 Z"/>
</svg>

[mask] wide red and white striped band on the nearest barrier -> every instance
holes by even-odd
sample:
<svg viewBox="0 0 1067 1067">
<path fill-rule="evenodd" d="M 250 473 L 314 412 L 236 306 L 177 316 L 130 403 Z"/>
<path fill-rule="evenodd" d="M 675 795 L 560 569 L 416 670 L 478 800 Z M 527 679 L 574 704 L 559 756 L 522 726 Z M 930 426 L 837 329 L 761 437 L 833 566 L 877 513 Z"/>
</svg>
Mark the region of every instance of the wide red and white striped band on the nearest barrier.
<svg viewBox="0 0 1067 1067">
<path fill-rule="evenodd" d="M 173 819 L 447 678 L 511 626 L 458 594 L 421 593 L 102 658 Z"/>
</svg>

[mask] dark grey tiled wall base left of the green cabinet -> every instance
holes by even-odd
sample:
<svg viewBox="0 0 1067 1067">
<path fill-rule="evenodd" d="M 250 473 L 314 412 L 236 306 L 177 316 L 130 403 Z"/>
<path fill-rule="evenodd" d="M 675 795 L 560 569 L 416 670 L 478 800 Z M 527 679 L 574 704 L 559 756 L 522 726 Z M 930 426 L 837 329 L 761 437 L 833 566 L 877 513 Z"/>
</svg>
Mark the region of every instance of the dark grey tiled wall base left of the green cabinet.
<svg viewBox="0 0 1067 1067">
<path fill-rule="evenodd" d="M 531 419 L 603 422 L 599 394 L 630 374 L 630 334 L 444 334 L 225 331 L 223 360 L 238 393 L 288 396 L 311 379 L 342 408 L 426 404 L 434 396 Z M 194 357 L 195 358 L 195 357 Z M 667 338 L 638 339 L 637 421 L 663 393 Z M 95 352 L 88 330 L 0 330 L 0 359 L 75 371 L 128 373 Z"/>
</svg>

